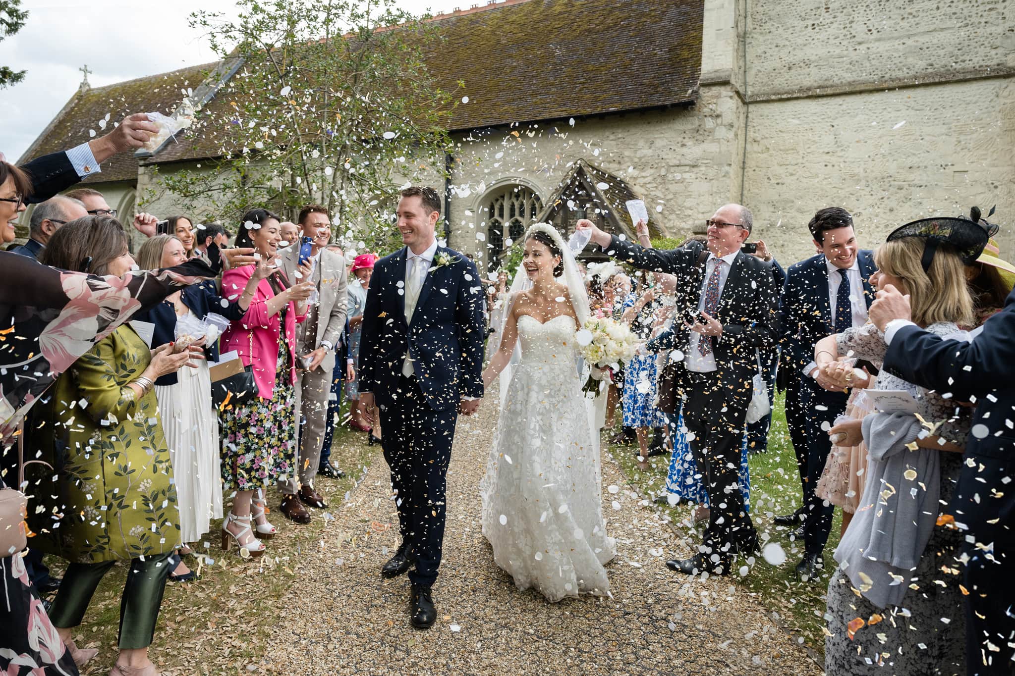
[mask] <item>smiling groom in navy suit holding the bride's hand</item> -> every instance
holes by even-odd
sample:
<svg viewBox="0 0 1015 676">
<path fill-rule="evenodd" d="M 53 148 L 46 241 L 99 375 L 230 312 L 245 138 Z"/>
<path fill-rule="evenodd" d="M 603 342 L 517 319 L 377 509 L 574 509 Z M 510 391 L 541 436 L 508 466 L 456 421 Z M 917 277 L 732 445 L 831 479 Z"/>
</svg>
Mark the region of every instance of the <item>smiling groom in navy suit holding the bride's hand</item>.
<svg viewBox="0 0 1015 676">
<path fill-rule="evenodd" d="M 460 412 L 474 414 L 483 396 L 483 292 L 476 267 L 437 245 L 436 191 L 403 190 L 397 215 L 405 248 L 374 264 L 359 395 L 371 424 L 380 415 L 402 536 L 381 575 L 394 578 L 415 567 L 411 619 L 425 629 L 436 619 L 430 587 L 441 566 L 455 422 Z"/>
</svg>

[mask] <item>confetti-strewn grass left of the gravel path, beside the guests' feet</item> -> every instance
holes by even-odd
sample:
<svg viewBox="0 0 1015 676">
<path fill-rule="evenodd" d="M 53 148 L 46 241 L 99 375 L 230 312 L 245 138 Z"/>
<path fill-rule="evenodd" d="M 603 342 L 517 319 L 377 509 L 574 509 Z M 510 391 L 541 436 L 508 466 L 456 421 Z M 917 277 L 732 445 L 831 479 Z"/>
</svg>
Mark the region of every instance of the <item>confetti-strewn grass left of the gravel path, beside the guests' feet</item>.
<svg viewBox="0 0 1015 676">
<path fill-rule="evenodd" d="M 347 416 L 343 411 L 343 418 Z M 332 463 L 345 470 L 343 479 L 318 477 L 315 482 L 332 509 L 360 480 L 373 449 L 366 436 L 344 427 L 335 430 Z M 224 497 L 223 510 L 230 508 Z M 279 494 L 268 492 L 269 520 L 278 529 L 266 540 L 267 551 L 259 559 L 245 560 L 236 553 L 220 548 L 221 520 L 211 524 L 211 532 L 196 545 L 186 562 L 200 570 L 199 580 L 168 583 L 162 599 L 158 624 L 150 656 L 163 674 L 248 674 L 248 665 L 271 653 L 265 643 L 267 628 L 285 617 L 306 621 L 303 608 L 287 608 L 281 599 L 297 581 L 299 551 L 321 546 L 327 528 L 327 510 L 312 510 L 314 521 L 295 526 L 278 511 Z M 198 558 L 203 559 L 197 569 Z M 47 556 L 53 575 L 61 576 L 65 562 Z M 84 622 L 74 631 L 79 648 L 98 648 L 98 656 L 81 670 L 82 676 L 108 674 L 117 656 L 117 632 L 120 623 L 120 598 L 127 566 L 118 564 L 107 574 L 85 614 Z"/>
</svg>

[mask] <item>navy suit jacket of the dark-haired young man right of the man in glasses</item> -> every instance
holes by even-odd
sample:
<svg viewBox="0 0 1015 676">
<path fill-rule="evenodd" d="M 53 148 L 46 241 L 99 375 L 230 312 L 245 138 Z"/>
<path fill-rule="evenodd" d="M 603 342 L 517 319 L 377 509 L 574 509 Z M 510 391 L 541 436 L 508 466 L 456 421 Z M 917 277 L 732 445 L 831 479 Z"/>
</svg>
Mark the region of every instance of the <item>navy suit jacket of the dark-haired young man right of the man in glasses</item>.
<svg viewBox="0 0 1015 676">
<path fill-rule="evenodd" d="M 874 252 L 857 252 L 860 277 L 864 281 L 867 307 L 874 300 L 870 277 L 877 272 Z M 779 304 L 779 324 L 783 346 L 783 368 L 789 378 L 799 378 L 814 361 L 814 345 L 835 332 L 828 301 L 828 268 L 823 253 L 790 266 L 786 273 L 783 298 Z"/>
</svg>

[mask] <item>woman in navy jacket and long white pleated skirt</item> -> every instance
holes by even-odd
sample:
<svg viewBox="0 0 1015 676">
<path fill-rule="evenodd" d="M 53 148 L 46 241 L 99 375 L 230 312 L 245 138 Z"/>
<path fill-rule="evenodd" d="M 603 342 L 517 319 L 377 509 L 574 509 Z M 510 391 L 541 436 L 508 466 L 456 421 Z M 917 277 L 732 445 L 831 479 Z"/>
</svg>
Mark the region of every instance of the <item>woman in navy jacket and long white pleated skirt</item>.
<svg viewBox="0 0 1015 676">
<path fill-rule="evenodd" d="M 141 270 L 158 270 L 178 266 L 188 257 L 178 237 L 155 235 L 138 249 L 137 265 Z M 243 317 L 260 279 L 257 274 L 252 276 L 240 297 L 224 303 L 204 284 L 195 284 L 172 294 L 155 307 L 138 312 L 136 319 L 153 325 L 152 345 L 174 343 L 181 340 L 176 329 L 182 317 L 202 321 L 210 312 L 231 320 Z M 203 341 L 195 345 L 204 348 L 208 359 L 217 361 L 217 337 L 208 346 Z M 196 369 L 182 369 L 155 380 L 155 398 L 173 462 L 180 537 L 185 546 L 178 552 L 180 561 L 170 574 L 170 580 L 183 582 L 194 578 L 182 557 L 190 553 L 187 545 L 197 542 L 208 532 L 211 519 L 222 518 L 218 421 L 211 402 L 207 362 L 199 362 Z"/>
</svg>

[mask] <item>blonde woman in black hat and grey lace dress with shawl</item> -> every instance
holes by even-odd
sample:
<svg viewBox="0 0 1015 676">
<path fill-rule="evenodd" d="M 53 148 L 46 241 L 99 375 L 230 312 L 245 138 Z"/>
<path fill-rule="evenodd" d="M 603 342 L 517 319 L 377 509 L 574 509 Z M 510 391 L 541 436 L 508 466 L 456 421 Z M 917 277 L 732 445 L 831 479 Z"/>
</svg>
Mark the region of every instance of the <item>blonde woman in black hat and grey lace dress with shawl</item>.
<svg viewBox="0 0 1015 676">
<path fill-rule="evenodd" d="M 908 223 L 878 248 L 873 282 L 879 292 L 908 294 L 912 319 L 929 334 L 955 334 L 972 317 L 965 264 L 986 243 L 987 233 L 972 221 Z M 867 323 L 819 341 L 815 357 L 820 366 L 851 354 L 881 364 L 886 351 L 884 333 Z M 878 390 L 909 392 L 917 415 L 871 414 L 859 435 L 857 426 L 849 432 L 845 443 L 855 445 L 862 436 L 867 445 L 867 476 L 835 549 L 840 568 L 828 584 L 825 671 L 880 674 L 890 666 L 894 674 L 917 675 L 933 665 L 937 673 L 959 673 L 965 664 L 958 579 L 964 535 L 936 521 L 962 471 L 969 408 L 957 405 L 951 392 L 918 389 L 891 370 L 878 374 Z M 875 615 L 884 621 L 872 625 Z"/>
</svg>

